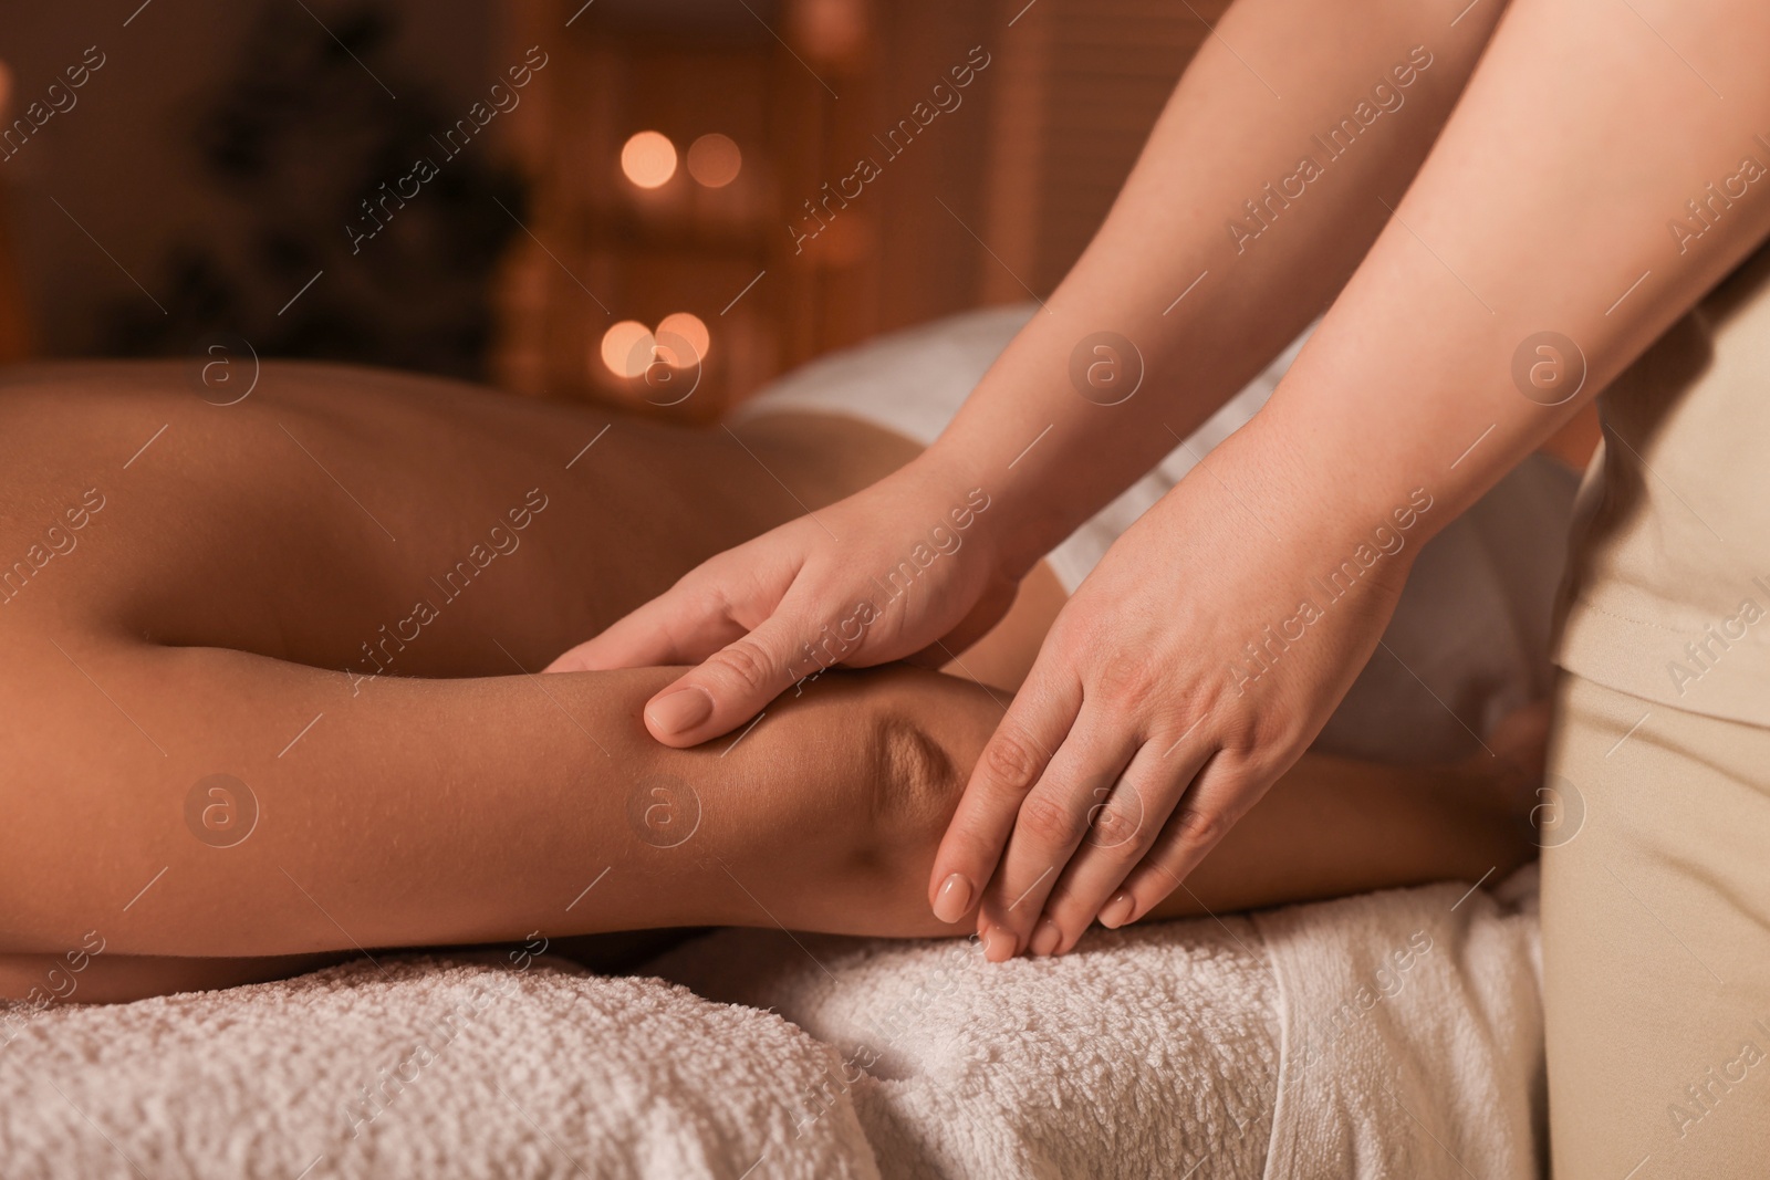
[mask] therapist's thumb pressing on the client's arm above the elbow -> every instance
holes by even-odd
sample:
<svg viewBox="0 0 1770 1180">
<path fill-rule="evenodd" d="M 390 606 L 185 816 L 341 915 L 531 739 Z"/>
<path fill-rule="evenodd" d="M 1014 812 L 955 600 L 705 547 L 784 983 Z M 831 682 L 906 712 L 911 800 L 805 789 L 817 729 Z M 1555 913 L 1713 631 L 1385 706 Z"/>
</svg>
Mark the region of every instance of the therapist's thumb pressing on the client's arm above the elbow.
<svg viewBox="0 0 1770 1180">
<path fill-rule="evenodd" d="M 796 658 L 798 628 L 779 616 L 720 647 L 646 701 L 646 729 L 667 747 L 687 748 L 727 734 L 761 713 L 807 669 Z"/>
</svg>

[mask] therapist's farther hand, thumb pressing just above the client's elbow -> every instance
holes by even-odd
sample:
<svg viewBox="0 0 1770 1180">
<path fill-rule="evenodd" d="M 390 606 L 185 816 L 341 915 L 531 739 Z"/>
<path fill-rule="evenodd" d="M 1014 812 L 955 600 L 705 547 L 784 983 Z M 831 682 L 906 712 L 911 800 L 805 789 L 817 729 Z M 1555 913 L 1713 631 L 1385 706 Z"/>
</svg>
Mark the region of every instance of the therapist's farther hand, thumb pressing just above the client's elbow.
<svg viewBox="0 0 1770 1180">
<path fill-rule="evenodd" d="M 646 702 L 669 747 L 731 732 L 835 663 L 940 665 L 1014 601 L 1005 508 L 922 458 L 690 570 L 549 672 L 696 663 Z"/>
</svg>

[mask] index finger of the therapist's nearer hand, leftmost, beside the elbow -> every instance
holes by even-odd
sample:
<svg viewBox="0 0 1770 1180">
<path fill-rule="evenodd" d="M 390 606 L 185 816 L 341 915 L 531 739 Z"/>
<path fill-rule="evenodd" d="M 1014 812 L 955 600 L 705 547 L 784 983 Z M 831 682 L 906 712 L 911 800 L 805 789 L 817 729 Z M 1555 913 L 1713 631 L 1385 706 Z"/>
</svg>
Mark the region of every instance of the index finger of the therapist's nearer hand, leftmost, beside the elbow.
<svg viewBox="0 0 1770 1180">
<path fill-rule="evenodd" d="M 984 885 L 1007 847 L 1021 801 L 1039 782 L 1080 708 L 1080 681 L 1067 672 L 1041 674 L 1034 663 L 1027 683 L 979 754 L 959 808 L 935 853 L 927 900 L 942 922 L 958 922 L 982 897 Z"/>
</svg>

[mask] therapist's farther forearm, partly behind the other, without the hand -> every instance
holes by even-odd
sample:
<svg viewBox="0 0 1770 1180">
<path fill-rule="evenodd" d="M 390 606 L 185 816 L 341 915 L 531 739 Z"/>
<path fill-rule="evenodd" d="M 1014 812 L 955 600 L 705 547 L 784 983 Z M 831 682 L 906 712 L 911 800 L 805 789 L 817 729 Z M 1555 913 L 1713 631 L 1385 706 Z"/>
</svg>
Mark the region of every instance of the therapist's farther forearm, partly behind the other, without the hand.
<svg viewBox="0 0 1770 1180">
<path fill-rule="evenodd" d="M 1416 0 L 1241 0 L 1205 37 L 1094 242 L 927 455 L 1005 506 L 1005 564 L 1067 536 L 1322 310 L 1501 7 L 1451 25 Z M 1101 331 L 1145 366 L 1120 405 L 1071 379 Z"/>
</svg>

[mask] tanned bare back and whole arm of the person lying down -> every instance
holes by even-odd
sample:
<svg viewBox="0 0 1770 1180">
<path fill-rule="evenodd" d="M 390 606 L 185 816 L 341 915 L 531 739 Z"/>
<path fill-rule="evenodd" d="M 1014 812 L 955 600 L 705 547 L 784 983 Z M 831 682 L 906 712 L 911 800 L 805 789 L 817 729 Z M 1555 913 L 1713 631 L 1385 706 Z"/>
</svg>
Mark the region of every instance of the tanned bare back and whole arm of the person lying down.
<svg viewBox="0 0 1770 1180">
<path fill-rule="evenodd" d="M 230 407 L 191 396 L 181 366 L 7 372 L 0 554 L 28 559 L 57 522 L 64 552 L 12 568 L 0 603 L 0 994 L 129 1000 L 381 948 L 660 927 L 950 934 L 924 883 L 1060 609 L 1048 571 L 954 665 L 995 686 L 832 670 L 736 743 L 646 732 L 680 667 L 536 674 L 566 637 L 913 453 L 843 419 L 740 439 L 335 366 L 267 364 Z M 90 488 L 103 506 L 73 529 Z M 448 598 L 430 579 L 476 543 L 503 550 Z M 381 628 L 414 598 L 437 614 L 402 647 Z M 366 674 L 368 640 L 386 674 Z M 1306 757 L 1159 913 L 1504 870 L 1529 851 L 1540 745 L 1540 725 L 1513 743 L 1513 775 Z M 188 808 L 216 773 L 258 808 L 225 847 L 200 839 L 214 796 Z M 676 840 L 687 789 L 699 823 Z M 1138 828 L 1096 819 L 1103 842 Z M 90 934 L 103 954 L 71 971 Z"/>
</svg>

